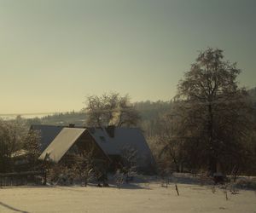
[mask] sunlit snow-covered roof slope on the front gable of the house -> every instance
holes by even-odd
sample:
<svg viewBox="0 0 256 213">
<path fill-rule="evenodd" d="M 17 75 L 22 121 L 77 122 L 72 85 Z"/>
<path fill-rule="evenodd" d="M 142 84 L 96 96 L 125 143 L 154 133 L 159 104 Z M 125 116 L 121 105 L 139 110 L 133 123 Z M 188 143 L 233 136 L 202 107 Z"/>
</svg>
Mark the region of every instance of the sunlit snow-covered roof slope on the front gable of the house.
<svg viewBox="0 0 256 213">
<path fill-rule="evenodd" d="M 63 128 L 61 132 L 56 135 L 55 139 L 49 144 L 39 159 L 44 160 L 45 156 L 55 163 L 58 163 L 68 149 L 73 146 L 75 141 L 84 133 L 85 129 L 78 128 Z"/>
</svg>

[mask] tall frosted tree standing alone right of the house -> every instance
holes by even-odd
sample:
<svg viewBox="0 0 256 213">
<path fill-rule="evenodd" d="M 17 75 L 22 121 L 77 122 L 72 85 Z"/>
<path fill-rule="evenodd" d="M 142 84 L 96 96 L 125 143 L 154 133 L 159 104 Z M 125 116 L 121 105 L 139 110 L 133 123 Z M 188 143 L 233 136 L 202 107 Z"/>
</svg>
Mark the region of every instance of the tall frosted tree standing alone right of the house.
<svg viewBox="0 0 256 213">
<path fill-rule="evenodd" d="M 183 125 L 177 132 L 185 138 L 188 160 L 200 159 L 196 162 L 207 164 L 211 173 L 241 167 L 248 154 L 251 125 L 247 92 L 236 82 L 240 72 L 222 50 L 209 48 L 178 83 L 177 116 Z"/>
</svg>

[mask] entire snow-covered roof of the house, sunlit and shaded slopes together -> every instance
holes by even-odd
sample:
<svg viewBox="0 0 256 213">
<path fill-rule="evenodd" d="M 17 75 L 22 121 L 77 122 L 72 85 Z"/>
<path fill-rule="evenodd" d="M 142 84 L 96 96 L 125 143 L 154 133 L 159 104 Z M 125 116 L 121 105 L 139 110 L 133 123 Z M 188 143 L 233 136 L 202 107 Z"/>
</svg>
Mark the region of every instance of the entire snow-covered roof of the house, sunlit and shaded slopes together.
<svg viewBox="0 0 256 213">
<path fill-rule="evenodd" d="M 39 159 L 44 159 L 46 153 L 54 162 L 58 162 L 67 150 L 79 139 L 85 131 L 107 155 L 120 155 L 128 149 L 137 150 L 137 163 L 147 166 L 148 160 L 154 162 L 152 153 L 148 147 L 141 130 L 137 128 L 118 128 L 109 132 L 108 128 L 67 128 L 49 125 L 34 125 L 32 130 L 41 131 L 43 153 Z"/>
</svg>

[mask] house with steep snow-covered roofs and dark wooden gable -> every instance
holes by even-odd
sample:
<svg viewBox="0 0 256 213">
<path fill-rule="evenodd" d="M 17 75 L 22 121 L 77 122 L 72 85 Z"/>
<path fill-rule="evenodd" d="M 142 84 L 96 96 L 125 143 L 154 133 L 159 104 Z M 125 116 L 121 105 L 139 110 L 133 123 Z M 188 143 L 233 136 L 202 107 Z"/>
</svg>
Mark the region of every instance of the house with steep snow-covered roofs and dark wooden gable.
<svg viewBox="0 0 256 213">
<path fill-rule="evenodd" d="M 41 152 L 39 159 L 59 163 L 70 159 L 73 153 L 82 153 L 94 148 L 96 158 L 102 158 L 114 167 L 119 164 L 122 154 L 134 150 L 137 168 L 152 171 L 154 158 L 141 130 L 137 128 L 85 128 L 54 125 L 32 125 L 31 130 L 38 130 L 41 136 Z"/>
</svg>

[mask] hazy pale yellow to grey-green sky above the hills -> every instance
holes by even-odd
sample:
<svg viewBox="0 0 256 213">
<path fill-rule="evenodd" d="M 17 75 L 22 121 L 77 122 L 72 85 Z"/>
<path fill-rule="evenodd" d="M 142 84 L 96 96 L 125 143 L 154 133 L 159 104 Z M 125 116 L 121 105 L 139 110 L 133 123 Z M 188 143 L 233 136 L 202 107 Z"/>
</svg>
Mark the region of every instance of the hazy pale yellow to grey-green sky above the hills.
<svg viewBox="0 0 256 213">
<path fill-rule="evenodd" d="M 200 50 L 256 86 L 254 0 L 0 0 L 0 114 L 79 111 L 88 95 L 169 101 Z"/>
</svg>

